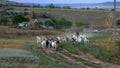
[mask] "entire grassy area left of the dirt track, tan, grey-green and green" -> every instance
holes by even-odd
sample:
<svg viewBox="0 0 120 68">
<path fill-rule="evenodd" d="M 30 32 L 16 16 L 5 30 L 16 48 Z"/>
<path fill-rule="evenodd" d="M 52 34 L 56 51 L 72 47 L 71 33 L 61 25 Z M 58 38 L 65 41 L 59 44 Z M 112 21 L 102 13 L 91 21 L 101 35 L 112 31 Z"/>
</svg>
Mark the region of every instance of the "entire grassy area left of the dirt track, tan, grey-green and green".
<svg viewBox="0 0 120 68">
<path fill-rule="evenodd" d="M 7 45 L 0 48 L 0 68 L 81 68 L 50 57 L 41 50 L 34 52 L 32 50 L 32 46 L 35 45 L 33 39 L 2 38 L 1 40 L 4 42 L 1 45 Z M 10 47 L 10 43 L 14 46 Z"/>
</svg>

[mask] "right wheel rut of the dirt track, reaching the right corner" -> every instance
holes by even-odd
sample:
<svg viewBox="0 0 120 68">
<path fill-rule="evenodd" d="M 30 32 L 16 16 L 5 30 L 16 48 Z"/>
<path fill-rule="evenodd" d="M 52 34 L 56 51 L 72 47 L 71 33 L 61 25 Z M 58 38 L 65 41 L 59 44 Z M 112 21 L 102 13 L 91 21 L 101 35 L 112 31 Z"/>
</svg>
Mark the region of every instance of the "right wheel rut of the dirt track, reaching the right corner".
<svg viewBox="0 0 120 68">
<path fill-rule="evenodd" d="M 101 60 L 96 59 L 94 56 L 92 56 L 89 53 L 80 53 L 80 55 L 75 55 L 75 54 L 71 54 L 69 53 L 67 50 L 64 49 L 64 52 L 68 53 L 71 57 L 77 58 L 77 59 L 83 59 L 86 61 L 89 61 L 91 63 L 100 65 L 102 68 L 120 68 L 120 65 L 117 64 L 113 64 L 113 63 L 108 63 L 108 62 L 103 62 Z"/>
</svg>

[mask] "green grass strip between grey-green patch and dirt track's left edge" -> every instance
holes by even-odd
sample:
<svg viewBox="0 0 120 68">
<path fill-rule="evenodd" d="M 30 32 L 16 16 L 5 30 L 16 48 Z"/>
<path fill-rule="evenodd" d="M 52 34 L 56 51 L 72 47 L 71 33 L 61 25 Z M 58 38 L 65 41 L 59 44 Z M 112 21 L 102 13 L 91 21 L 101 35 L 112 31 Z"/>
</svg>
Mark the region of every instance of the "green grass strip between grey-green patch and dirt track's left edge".
<svg viewBox="0 0 120 68">
<path fill-rule="evenodd" d="M 24 49 L 31 50 L 32 45 L 25 44 Z M 56 58 L 52 58 L 49 55 L 45 54 L 42 50 L 32 51 L 33 54 L 40 58 L 40 63 L 38 68 L 81 68 L 80 66 L 71 65 L 68 63 L 64 63 L 61 60 Z M 52 58 L 52 59 L 51 59 Z M 82 67 L 83 68 L 83 67 Z"/>
</svg>

